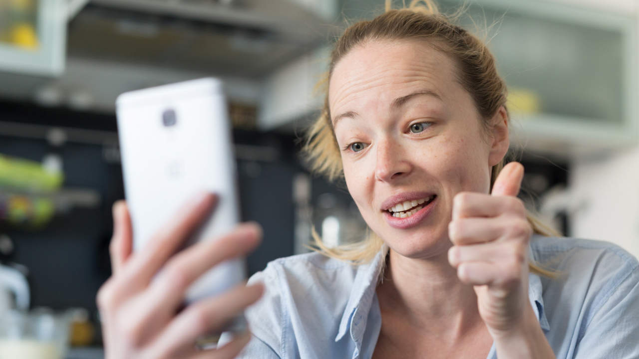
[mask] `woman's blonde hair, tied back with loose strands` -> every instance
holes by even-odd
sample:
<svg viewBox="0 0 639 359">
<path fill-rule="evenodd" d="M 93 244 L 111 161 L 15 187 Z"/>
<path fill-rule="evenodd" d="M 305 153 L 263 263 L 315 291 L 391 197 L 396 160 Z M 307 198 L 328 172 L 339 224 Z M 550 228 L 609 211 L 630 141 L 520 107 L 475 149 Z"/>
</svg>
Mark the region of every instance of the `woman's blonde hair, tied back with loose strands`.
<svg viewBox="0 0 639 359">
<path fill-rule="evenodd" d="M 419 4 L 423 3 L 423 4 Z M 452 20 L 440 13 L 431 0 L 413 0 L 408 8 L 393 10 L 391 1 L 386 0 L 385 13 L 372 20 L 364 20 L 349 26 L 335 43 L 330 57 L 327 75 L 320 84 L 325 86 L 325 101 L 319 117 L 312 123 L 306 134 L 304 152 L 311 169 L 325 175 L 330 181 L 343 178 L 344 172 L 337 146 L 337 139 L 330 121 L 328 107 L 328 82 L 335 65 L 353 47 L 371 40 L 427 40 L 429 45 L 450 56 L 459 68 L 457 80 L 470 93 L 477 111 L 481 115 L 482 130 L 488 134 L 489 119 L 506 105 L 507 89 L 504 80 L 495 68 L 495 59 L 488 47 L 473 34 L 452 24 Z M 490 188 L 505 164 L 505 158 L 491 169 Z M 557 231 L 544 225 L 527 211 L 527 220 L 534 233 L 544 236 L 560 236 Z M 335 248 L 326 247 L 313 230 L 314 247 L 326 256 L 366 263 L 383 247 L 383 241 L 374 233 L 364 240 Z M 555 272 L 530 263 L 533 273 L 555 277 Z"/>
</svg>

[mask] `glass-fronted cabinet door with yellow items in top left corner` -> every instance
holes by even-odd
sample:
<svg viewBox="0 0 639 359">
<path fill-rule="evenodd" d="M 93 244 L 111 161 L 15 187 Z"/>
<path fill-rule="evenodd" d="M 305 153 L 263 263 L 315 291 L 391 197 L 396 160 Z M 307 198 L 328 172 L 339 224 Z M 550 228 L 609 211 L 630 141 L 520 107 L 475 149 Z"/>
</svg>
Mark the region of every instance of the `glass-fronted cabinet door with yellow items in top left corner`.
<svg viewBox="0 0 639 359">
<path fill-rule="evenodd" d="M 66 1 L 0 1 L 0 71 L 59 75 L 65 66 Z"/>
</svg>

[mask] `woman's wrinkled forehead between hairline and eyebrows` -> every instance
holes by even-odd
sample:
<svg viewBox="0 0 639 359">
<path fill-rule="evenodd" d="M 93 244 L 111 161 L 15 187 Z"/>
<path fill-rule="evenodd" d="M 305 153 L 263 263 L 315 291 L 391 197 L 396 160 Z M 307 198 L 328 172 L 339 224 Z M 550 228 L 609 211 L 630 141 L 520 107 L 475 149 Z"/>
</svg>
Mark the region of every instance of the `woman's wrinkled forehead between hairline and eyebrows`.
<svg viewBox="0 0 639 359">
<path fill-rule="evenodd" d="M 391 102 L 403 92 L 424 89 L 445 101 L 463 91 L 449 56 L 424 40 L 373 40 L 354 47 L 335 65 L 328 103 L 334 115 L 363 98 Z"/>
</svg>

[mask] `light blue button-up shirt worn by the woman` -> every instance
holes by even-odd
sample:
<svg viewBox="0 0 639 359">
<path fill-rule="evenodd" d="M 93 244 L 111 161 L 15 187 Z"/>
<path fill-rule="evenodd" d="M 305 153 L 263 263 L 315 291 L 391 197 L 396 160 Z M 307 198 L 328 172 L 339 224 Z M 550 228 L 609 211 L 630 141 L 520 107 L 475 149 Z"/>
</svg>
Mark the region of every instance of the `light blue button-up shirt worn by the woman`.
<svg viewBox="0 0 639 359">
<path fill-rule="evenodd" d="M 321 254 L 277 259 L 253 275 L 241 358 L 371 358 L 381 328 L 376 285 L 384 251 L 352 266 Z M 557 358 L 639 358 L 639 263 L 611 243 L 533 236 L 530 255 L 558 279 L 530 274 L 528 295 Z M 495 346 L 489 359 L 497 358 Z"/>
</svg>

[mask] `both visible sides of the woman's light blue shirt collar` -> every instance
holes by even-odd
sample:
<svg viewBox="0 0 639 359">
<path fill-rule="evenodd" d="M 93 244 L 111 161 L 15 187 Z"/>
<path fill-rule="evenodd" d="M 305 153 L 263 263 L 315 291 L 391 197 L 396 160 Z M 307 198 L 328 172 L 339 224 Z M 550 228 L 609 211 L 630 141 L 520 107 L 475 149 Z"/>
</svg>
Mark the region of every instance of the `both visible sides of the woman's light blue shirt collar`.
<svg viewBox="0 0 639 359">
<path fill-rule="evenodd" d="M 532 240 L 534 240 L 534 238 L 531 238 L 530 241 L 532 242 Z M 529 245 L 528 249 L 530 250 L 529 257 L 535 261 L 532 245 Z M 357 274 L 355 275 L 354 285 L 348 298 L 348 303 L 346 303 L 346 309 L 339 323 L 339 331 L 337 332 L 337 337 L 335 337 L 335 342 L 341 340 L 346 332 L 348 332 L 355 310 L 363 303 L 367 303 L 369 306 L 371 305 L 371 299 L 375 294 L 381 268 L 383 268 L 388 250 L 387 245 L 383 245 L 380 252 L 376 254 L 370 263 L 360 264 Z M 546 311 L 544 310 L 543 286 L 539 275 L 534 273 L 528 274 L 528 299 L 530 300 L 532 309 L 537 315 L 537 319 L 539 319 L 541 329 L 544 330 L 544 332 L 548 332 L 550 330 L 550 324 L 548 323 Z"/>
</svg>

